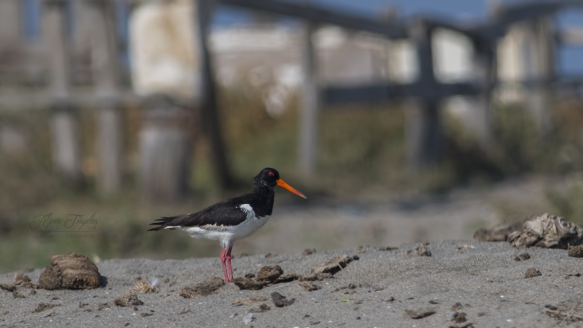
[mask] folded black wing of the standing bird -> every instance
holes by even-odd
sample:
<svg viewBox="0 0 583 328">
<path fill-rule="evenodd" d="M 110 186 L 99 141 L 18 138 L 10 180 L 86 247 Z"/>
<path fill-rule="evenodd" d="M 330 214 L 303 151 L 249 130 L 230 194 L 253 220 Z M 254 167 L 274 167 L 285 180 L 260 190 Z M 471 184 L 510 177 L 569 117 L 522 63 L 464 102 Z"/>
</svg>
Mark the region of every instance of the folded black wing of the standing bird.
<svg viewBox="0 0 583 328">
<path fill-rule="evenodd" d="M 148 231 L 158 231 L 168 226 L 205 226 L 205 225 L 238 225 L 245 221 L 247 213 L 241 210 L 240 205 L 245 204 L 243 197 L 217 203 L 204 210 L 192 214 L 182 214 L 175 217 L 163 217 L 156 219 L 150 225 L 158 225 Z"/>
</svg>

